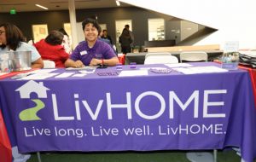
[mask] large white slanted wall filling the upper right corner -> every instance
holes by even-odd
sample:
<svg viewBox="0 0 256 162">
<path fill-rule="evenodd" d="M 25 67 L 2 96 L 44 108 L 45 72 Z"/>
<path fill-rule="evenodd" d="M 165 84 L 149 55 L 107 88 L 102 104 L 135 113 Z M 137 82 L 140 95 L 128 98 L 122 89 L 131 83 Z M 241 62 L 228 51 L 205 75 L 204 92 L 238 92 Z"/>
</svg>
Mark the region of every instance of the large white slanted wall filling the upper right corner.
<svg viewBox="0 0 256 162">
<path fill-rule="evenodd" d="M 223 48 L 226 41 L 239 41 L 240 49 L 256 49 L 255 0 L 120 1 L 218 30 L 196 43 L 198 45 L 218 43 Z"/>
</svg>

